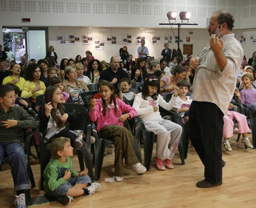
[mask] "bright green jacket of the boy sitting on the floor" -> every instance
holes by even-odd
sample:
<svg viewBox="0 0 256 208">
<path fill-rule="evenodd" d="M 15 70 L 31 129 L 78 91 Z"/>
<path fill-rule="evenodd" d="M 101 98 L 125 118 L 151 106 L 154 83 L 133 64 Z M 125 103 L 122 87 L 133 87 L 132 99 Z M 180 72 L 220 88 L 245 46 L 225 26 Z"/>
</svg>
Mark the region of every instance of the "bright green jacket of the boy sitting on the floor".
<svg viewBox="0 0 256 208">
<path fill-rule="evenodd" d="M 63 179 L 65 171 L 69 169 L 71 172 L 71 177 L 75 177 L 78 172 L 72 170 L 72 160 L 67 157 L 66 163 L 61 163 L 58 159 L 51 160 L 43 171 L 43 188 L 45 192 L 54 191 L 60 185 L 65 184 L 67 181 Z"/>
</svg>

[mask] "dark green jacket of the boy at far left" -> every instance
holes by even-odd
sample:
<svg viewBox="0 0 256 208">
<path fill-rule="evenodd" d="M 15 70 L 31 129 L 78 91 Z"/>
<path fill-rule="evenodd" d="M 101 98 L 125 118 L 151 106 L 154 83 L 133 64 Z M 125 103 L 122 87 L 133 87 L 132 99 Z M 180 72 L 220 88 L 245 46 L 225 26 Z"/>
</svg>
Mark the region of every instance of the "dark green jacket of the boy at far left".
<svg viewBox="0 0 256 208">
<path fill-rule="evenodd" d="M 27 114 L 27 112 L 19 106 L 10 108 L 6 113 L 0 108 L 0 121 L 7 121 L 8 119 L 17 120 L 18 125 L 5 128 L 2 127 L 2 123 L 0 123 L 0 142 L 21 143 L 21 141 L 23 141 L 24 129 L 38 127 L 38 123 L 33 116 Z"/>
</svg>

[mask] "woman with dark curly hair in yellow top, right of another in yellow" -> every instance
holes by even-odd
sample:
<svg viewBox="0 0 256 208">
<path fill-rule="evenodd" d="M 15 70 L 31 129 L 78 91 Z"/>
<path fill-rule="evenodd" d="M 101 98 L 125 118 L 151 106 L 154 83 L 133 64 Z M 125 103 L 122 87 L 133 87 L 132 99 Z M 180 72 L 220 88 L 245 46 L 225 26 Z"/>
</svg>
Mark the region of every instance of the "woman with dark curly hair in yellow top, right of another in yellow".
<svg viewBox="0 0 256 208">
<path fill-rule="evenodd" d="M 36 96 L 45 93 L 45 83 L 42 80 L 43 73 L 38 64 L 30 64 L 25 71 L 25 81 L 21 97 L 32 97 L 32 102 L 35 102 Z"/>
</svg>

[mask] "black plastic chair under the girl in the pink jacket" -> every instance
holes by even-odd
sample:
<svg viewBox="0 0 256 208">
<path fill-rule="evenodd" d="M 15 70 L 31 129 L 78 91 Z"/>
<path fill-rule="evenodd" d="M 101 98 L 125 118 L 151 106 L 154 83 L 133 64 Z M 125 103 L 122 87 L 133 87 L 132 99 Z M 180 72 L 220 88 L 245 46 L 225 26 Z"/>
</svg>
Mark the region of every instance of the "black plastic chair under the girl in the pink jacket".
<svg viewBox="0 0 256 208">
<path fill-rule="evenodd" d="M 132 120 L 133 120 L 132 133 L 133 133 L 134 144 L 135 144 L 135 153 L 139 159 L 139 162 L 142 162 L 141 146 L 139 143 L 140 122 L 137 117 L 132 118 Z M 124 127 L 130 129 L 130 126 L 127 120 L 124 122 Z M 98 131 L 95 123 L 92 123 L 92 134 L 93 134 L 93 137 L 95 137 L 95 145 L 94 145 L 95 147 L 95 181 L 99 181 L 99 178 L 101 177 L 101 169 L 102 169 L 102 163 L 104 160 L 105 149 L 108 145 L 114 144 L 114 143 L 113 143 L 113 140 L 109 138 L 98 137 Z"/>
</svg>

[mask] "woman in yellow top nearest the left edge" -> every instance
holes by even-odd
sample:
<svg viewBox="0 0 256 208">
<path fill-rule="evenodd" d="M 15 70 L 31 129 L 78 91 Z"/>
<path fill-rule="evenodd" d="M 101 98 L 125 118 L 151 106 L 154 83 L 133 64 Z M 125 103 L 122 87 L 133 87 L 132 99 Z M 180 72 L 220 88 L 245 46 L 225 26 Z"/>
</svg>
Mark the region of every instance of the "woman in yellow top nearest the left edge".
<svg viewBox="0 0 256 208">
<path fill-rule="evenodd" d="M 5 77 L 4 80 L 2 81 L 2 84 L 15 84 L 18 88 L 20 88 L 20 91 L 23 90 L 23 85 L 25 83 L 25 79 L 23 77 L 20 77 L 20 64 L 13 64 L 11 65 L 11 76 Z"/>
</svg>

